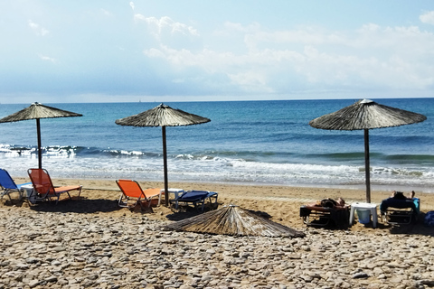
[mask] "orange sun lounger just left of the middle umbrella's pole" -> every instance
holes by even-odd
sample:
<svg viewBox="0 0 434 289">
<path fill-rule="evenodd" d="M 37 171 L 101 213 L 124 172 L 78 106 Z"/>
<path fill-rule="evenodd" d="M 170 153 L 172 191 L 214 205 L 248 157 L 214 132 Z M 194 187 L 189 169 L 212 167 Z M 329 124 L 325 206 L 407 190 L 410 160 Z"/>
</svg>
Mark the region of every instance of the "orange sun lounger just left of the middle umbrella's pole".
<svg viewBox="0 0 434 289">
<path fill-rule="evenodd" d="M 121 191 L 118 206 L 123 208 L 134 208 L 137 204 L 143 208 L 143 202 L 147 202 L 147 207 L 151 206 L 154 197 L 158 197 L 158 206 L 161 202 L 161 189 L 142 190 L 137 181 L 118 180 L 118 187 Z"/>
</svg>

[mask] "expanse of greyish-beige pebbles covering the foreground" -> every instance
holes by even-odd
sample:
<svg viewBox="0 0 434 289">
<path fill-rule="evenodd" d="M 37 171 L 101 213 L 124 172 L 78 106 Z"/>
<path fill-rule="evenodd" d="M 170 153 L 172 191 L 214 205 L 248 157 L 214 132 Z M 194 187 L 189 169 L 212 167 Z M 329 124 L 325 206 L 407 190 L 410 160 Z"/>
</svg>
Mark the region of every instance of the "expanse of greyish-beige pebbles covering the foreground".
<svg viewBox="0 0 434 289">
<path fill-rule="evenodd" d="M 138 213 L 0 210 L 0 288 L 428 288 L 434 240 L 323 228 L 306 238 L 162 231 Z"/>
</svg>

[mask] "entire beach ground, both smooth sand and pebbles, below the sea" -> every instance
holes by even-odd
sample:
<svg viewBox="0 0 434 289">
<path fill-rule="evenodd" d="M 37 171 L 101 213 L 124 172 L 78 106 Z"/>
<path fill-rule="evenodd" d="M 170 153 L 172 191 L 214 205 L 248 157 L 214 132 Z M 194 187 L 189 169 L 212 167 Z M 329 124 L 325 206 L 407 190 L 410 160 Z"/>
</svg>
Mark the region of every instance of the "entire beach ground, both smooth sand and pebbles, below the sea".
<svg viewBox="0 0 434 289">
<path fill-rule="evenodd" d="M 28 181 L 16 178 L 15 182 Z M 152 207 L 146 211 L 138 208 L 133 211 L 118 208 L 120 191 L 114 180 L 61 179 L 54 180 L 54 184 L 83 185 L 81 200 L 63 199 L 57 205 L 42 203 L 29 207 L 26 202 L 15 200 L 17 196 L 13 194 L 12 203 L 7 197 L 1 201 L 1 288 L 434 286 L 434 228 L 423 226 L 422 219 L 426 212 L 434 210 L 432 193 L 416 191 L 416 196 L 420 198 L 421 218 L 415 225 L 392 227 L 379 219 L 378 228 L 355 222 L 351 228 L 334 230 L 308 228 L 299 217 L 300 205 L 337 197 L 344 198 L 347 203 L 364 201 L 364 191 L 222 183 L 170 183 L 171 188 L 218 191 L 219 207 L 235 204 L 242 209 L 259 211 L 268 215 L 271 220 L 301 230 L 307 235 L 306 238 L 294 239 L 236 238 L 162 232 L 158 229 L 161 225 L 197 215 L 197 212 L 173 210 L 165 206 Z M 161 182 L 140 184 L 142 188 L 163 187 Z M 391 191 L 373 191 L 372 201 L 380 203 L 390 194 Z M 72 195 L 74 196 L 74 192 Z M 34 219 L 38 220 L 37 226 L 32 224 Z M 74 222 L 75 226 L 71 228 L 71 223 Z M 83 232 L 90 233 L 81 236 Z M 30 236 L 32 234 L 36 237 Z M 74 238 L 74 234 L 81 237 Z M 50 236 L 54 238 L 54 244 L 48 246 L 47 238 L 50 239 Z M 116 244 L 111 244 L 106 238 Z M 81 242 L 80 246 L 77 244 L 78 240 Z M 143 243 L 144 248 L 138 249 L 140 253 L 137 253 L 140 258 L 132 254 L 131 247 L 126 247 L 123 242 L 130 242 L 128 244 L 132 247 Z M 124 245 L 120 246 L 120 243 Z M 156 246 L 156 243 L 159 246 Z M 203 248 L 198 248 L 201 244 Z M 96 254 L 91 250 L 94 245 L 99 247 L 100 252 L 111 253 Z M 56 251 L 56 247 L 60 246 L 76 249 L 65 251 L 58 248 Z M 195 248 L 193 253 L 189 251 L 189 246 Z M 36 247 L 36 251 L 41 250 L 43 254 L 33 256 L 35 251 L 29 247 Z M 168 247 L 168 251 L 163 252 L 163 247 Z M 177 252 L 175 247 L 178 247 L 180 252 Z M 143 256 L 145 251 L 149 255 Z M 90 256 L 96 257 L 97 261 L 90 262 Z M 129 260 L 121 261 L 122 257 L 129 257 Z M 162 266 L 162 258 L 170 265 Z M 95 266 L 101 262 L 104 266 Z M 53 263 L 61 266 L 61 270 L 52 269 Z M 38 270 L 44 266 L 49 269 L 42 274 Z M 150 267 L 165 274 L 151 274 Z M 33 274 L 28 275 L 29 270 Z"/>
</svg>

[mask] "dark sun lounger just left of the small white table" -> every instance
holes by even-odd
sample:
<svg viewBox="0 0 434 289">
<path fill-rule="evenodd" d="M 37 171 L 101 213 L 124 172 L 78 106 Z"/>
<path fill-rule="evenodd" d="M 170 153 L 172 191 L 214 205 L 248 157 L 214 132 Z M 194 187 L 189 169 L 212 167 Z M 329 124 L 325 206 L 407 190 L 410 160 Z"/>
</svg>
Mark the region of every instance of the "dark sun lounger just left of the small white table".
<svg viewBox="0 0 434 289">
<path fill-rule="evenodd" d="M 301 206 L 300 217 L 307 226 L 350 227 L 350 207 Z"/>
</svg>

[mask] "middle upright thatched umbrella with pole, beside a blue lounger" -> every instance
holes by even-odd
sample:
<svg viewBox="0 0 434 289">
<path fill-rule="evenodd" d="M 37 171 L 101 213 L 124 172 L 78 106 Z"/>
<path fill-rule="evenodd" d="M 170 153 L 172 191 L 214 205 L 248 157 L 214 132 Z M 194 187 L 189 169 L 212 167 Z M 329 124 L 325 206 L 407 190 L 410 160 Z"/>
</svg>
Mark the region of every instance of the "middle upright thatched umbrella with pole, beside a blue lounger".
<svg viewBox="0 0 434 289">
<path fill-rule="evenodd" d="M 165 205 L 169 204 L 169 192 L 167 181 L 167 152 L 165 143 L 165 126 L 192 126 L 210 122 L 211 119 L 187 113 L 181 109 L 175 109 L 161 104 L 146 110 L 135 116 L 124 117 L 116 120 L 120 126 L 161 126 L 163 132 L 163 162 L 165 170 Z"/>
</svg>

